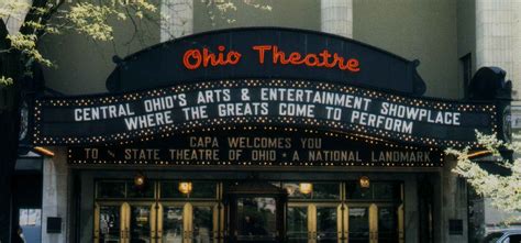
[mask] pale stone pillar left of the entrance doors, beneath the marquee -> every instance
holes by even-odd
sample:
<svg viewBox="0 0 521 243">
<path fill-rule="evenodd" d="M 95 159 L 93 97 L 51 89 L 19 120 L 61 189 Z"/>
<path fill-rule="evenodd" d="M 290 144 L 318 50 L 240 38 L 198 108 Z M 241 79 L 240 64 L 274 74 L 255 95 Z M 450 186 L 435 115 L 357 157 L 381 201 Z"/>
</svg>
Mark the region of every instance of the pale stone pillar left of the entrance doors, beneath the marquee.
<svg viewBox="0 0 521 243">
<path fill-rule="evenodd" d="M 65 147 L 51 148 L 54 157 L 43 163 L 42 242 L 66 243 L 68 233 L 68 167 Z M 62 218 L 62 232 L 47 233 L 47 218 Z"/>
</svg>

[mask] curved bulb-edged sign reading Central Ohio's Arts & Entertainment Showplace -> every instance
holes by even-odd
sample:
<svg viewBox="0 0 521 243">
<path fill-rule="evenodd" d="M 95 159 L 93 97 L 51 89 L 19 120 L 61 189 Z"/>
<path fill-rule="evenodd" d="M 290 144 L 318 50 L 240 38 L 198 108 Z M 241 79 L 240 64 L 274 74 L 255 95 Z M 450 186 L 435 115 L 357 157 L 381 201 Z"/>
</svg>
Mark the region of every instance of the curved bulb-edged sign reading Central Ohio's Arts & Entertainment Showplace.
<svg viewBox="0 0 521 243">
<path fill-rule="evenodd" d="M 123 95 L 36 100 L 34 143 L 126 144 L 217 128 L 285 126 L 428 146 L 475 144 L 496 106 L 420 99 L 333 82 L 241 79 Z"/>
</svg>

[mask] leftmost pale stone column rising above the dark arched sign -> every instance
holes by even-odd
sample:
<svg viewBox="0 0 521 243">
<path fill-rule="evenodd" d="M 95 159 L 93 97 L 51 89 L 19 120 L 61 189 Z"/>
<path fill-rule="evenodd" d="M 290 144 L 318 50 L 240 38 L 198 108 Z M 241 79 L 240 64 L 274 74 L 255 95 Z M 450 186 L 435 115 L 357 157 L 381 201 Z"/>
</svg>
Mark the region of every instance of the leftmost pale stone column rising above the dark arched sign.
<svg viewBox="0 0 521 243">
<path fill-rule="evenodd" d="M 193 0 L 162 0 L 160 15 L 162 42 L 193 32 Z"/>
</svg>

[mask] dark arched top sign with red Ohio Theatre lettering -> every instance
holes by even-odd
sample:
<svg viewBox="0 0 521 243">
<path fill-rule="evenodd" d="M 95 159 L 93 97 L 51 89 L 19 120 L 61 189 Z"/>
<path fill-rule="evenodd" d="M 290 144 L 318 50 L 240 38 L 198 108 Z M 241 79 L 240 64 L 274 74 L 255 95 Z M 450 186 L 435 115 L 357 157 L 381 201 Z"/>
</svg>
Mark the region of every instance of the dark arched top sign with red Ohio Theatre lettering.
<svg viewBox="0 0 521 243">
<path fill-rule="evenodd" d="M 411 62 L 354 40 L 313 31 L 245 27 L 206 32 L 145 48 L 118 64 L 111 92 L 220 79 L 306 79 L 421 96 Z"/>
</svg>

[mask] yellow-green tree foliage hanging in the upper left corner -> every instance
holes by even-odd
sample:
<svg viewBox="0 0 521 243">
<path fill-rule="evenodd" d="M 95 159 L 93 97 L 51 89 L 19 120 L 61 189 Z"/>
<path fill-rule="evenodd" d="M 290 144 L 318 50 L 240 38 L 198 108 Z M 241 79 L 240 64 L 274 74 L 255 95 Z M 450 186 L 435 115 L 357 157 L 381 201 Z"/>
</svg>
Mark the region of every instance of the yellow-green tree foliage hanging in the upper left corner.
<svg viewBox="0 0 521 243">
<path fill-rule="evenodd" d="M 191 0 L 187 0 L 191 1 Z M 217 9 L 217 14 L 211 15 L 228 18 L 231 11 L 237 11 L 232 0 L 202 0 L 209 9 Z M 246 5 L 259 10 L 270 11 L 269 4 L 257 2 L 257 0 L 242 0 Z M 37 42 L 42 36 L 48 34 L 62 34 L 76 32 L 92 41 L 112 41 L 114 38 L 114 22 L 147 18 L 157 11 L 157 7 L 151 0 L 90 0 L 73 2 L 70 0 L 35 0 L 30 4 L 29 0 L 9 0 L 0 3 L 0 19 L 5 23 L 9 21 L 22 22 L 21 29 L 25 31 L 9 33 L 5 38 L 10 43 L 7 49 L 20 51 L 27 62 L 36 62 L 44 66 L 53 66 L 53 62 L 45 58 L 37 49 Z M 38 4 L 35 4 L 38 3 Z M 31 18 L 26 18 L 31 15 Z M 160 16 L 168 19 L 171 16 Z M 137 27 L 136 27 L 137 31 Z M 30 65 L 26 65 L 30 66 Z M 12 84 L 12 77 L 1 77 L 0 85 Z"/>
</svg>

